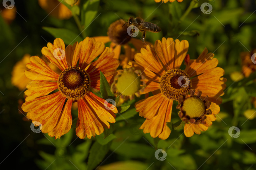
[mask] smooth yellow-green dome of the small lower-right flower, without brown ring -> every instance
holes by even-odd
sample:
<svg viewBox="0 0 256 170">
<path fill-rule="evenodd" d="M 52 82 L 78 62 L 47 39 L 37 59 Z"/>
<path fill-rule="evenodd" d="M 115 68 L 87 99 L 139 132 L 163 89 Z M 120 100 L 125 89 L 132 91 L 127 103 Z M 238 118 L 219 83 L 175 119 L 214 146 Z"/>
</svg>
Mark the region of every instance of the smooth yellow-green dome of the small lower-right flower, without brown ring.
<svg viewBox="0 0 256 170">
<path fill-rule="evenodd" d="M 199 97 L 191 96 L 184 100 L 181 110 L 186 112 L 186 116 L 190 118 L 198 118 L 205 114 L 204 101 Z"/>
</svg>

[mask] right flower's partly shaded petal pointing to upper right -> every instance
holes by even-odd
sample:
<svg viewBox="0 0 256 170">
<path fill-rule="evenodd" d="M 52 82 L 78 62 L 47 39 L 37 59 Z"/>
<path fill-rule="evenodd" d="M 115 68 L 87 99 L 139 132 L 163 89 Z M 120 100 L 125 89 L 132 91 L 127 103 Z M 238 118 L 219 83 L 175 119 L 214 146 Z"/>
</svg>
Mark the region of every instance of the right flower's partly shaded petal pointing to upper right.
<svg viewBox="0 0 256 170">
<path fill-rule="evenodd" d="M 204 73 L 207 70 L 213 69 L 218 65 L 217 59 L 212 59 L 214 57 L 213 53 L 208 53 L 207 48 L 199 55 L 197 59 L 191 59 L 186 65 L 186 73 L 190 76 L 196 76 Z"/>
</svg>

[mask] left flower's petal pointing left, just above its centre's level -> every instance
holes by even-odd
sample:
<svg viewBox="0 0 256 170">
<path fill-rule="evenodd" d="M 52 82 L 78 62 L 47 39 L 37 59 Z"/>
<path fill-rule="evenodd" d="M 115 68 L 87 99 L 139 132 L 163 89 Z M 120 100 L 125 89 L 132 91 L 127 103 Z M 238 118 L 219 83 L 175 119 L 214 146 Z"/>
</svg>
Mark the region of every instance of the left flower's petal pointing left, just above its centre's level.
<svg viewBox="0 0 256 170">
<path fill-rule="evenodd" d="M 46 65 L 38 56 L 30 57 L 30 62 L 26 66 L 30 70 L 25 71 L 27 78 L 32 80 L 58 80 L 58 74 Z"/>
</svg>

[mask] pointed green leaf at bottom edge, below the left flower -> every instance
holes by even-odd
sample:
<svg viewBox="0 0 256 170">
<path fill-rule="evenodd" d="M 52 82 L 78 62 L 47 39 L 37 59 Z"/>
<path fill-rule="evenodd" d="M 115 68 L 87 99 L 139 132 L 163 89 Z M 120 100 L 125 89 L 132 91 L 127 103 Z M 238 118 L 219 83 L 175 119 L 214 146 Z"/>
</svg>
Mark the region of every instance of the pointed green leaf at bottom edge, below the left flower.
<svg viewBox="0 0 256 170">
<path fill-rule="evenodd" d="M 88 170 L 94 169 L 106 156 L 111 142 L 105 145 L 99 144 L 97 141 L 94 142 L 90 149 L 90 154 L 88 158 Z"/>
</svg>

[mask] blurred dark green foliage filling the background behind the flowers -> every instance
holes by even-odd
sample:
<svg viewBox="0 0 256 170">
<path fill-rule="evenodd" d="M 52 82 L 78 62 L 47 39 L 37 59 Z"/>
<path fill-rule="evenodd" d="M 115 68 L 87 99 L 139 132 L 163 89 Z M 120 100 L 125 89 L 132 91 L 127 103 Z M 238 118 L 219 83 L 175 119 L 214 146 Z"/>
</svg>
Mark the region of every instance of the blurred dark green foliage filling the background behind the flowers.
<svg viewBox="0 0 256 170">
<path fill-rule="evenodd" d="M 212 5 L 210 14 L 200 10 L 204 2 Z M 256 48 L 255 2 L 81 0 L 79 6 L 66 4 L 74 17 L 59 20 L 48 16 L 37 0 L 15 0 L 15 19 L 7 23 L 3 15 L 0 17 L 1 169 L 256 169 L 253 165 L 256 163 L 256 120 L 252 103 L 253 97 L 256 97 L 256 74 L 243 78 L 240 58 L 241 52 Z M 191 3 L 195 5 L 184 16 Z M 5 10 L 2 3 L 1 10 Z M 167 140 L 153 139 L 138 130 L 144 118 L 135 111 L 136 98 L 124 104 L 131 107 L 121 113 L 123 117 L 118 115 L 117 122 L 95 138 L 77 138 L 76 121 L 70 132 L 60 139 L 34 133 L 30 129 L 31 121 L 26 120 L 22 115 L 24 113 L 21 114 L 18 104 L 18 100 L 24 99 L 24 91 L 11 84 L 15 63 L 25 54 L 41 56 L 41 48 L 47 42 L 53 43 L 56 37 L 62 38 L 68 45 L 82 41 L 85 36 L 107 36 L 111 23 L 119 17 L 128 19 L 130 16 L 146 18 L 146 21 L 161 27 L 159 33 L 147 32 L 146 41 L 154 43 L 162 37 L 186 39 L 191 59 L 197 58 L 205 47 L 215 54 L 218 66 L 225 70 L 224 77 L 228 81 L 222 96 L 221 112 L 216 115 L 217 120 L 209 130 L 190 138 L 185 137 L 183 130 L 173 130 Z M 79 20 L 84 29 L 81 34 L 81 28 L 77 26 Z M 251 110 L 249 115 L 246 114 L 248 110 Z M 177 111 L 173 109 L 173 123 L 179 120 Z M 76 110 L 72 112 L 77 113 Z M 229 135 L 228 130 L 232 126 L 241 130 L 238 138 Z M 156 159 L 157 149 L 167 152 L 166 160 Z"/>
</svg>

